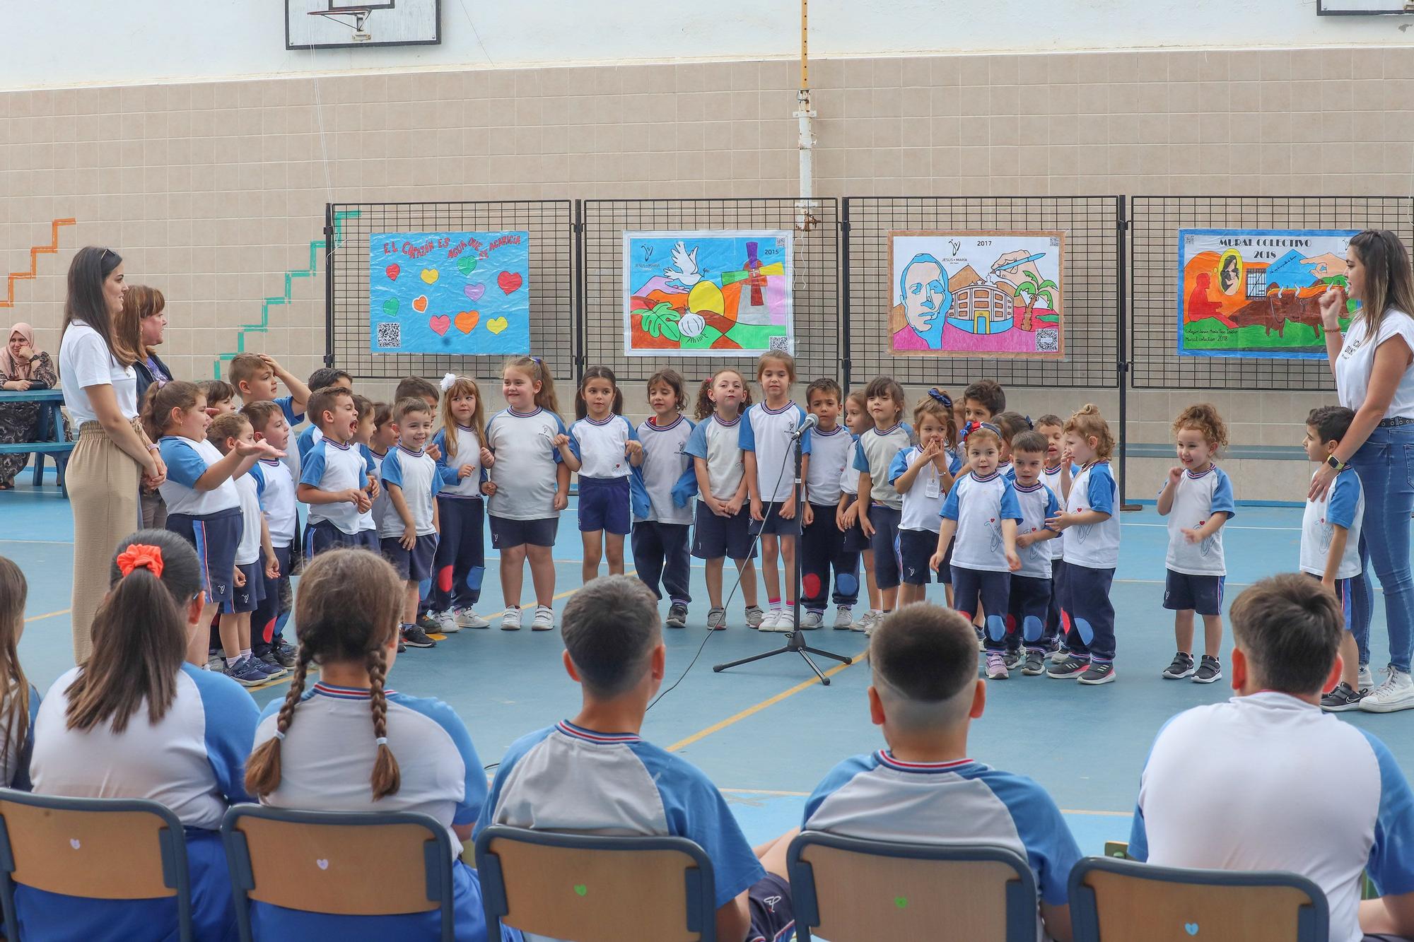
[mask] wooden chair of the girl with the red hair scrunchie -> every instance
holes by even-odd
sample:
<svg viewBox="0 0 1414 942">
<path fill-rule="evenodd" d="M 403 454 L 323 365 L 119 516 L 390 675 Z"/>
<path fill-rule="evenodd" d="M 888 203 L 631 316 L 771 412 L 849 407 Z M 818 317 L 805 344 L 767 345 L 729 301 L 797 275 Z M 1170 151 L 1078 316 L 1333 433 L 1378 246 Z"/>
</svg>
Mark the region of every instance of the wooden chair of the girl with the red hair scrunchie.
<svg viewBox="0 0 1414 942">
<path fill-rule="evenodd" d="M 7 939 L 20 938 L 16 884 L 93 900 L 170 897 L 178 938 L 192 938 L 187 837 L 157 802 L 0 789 L 0 870 Z"/>
</svg>

